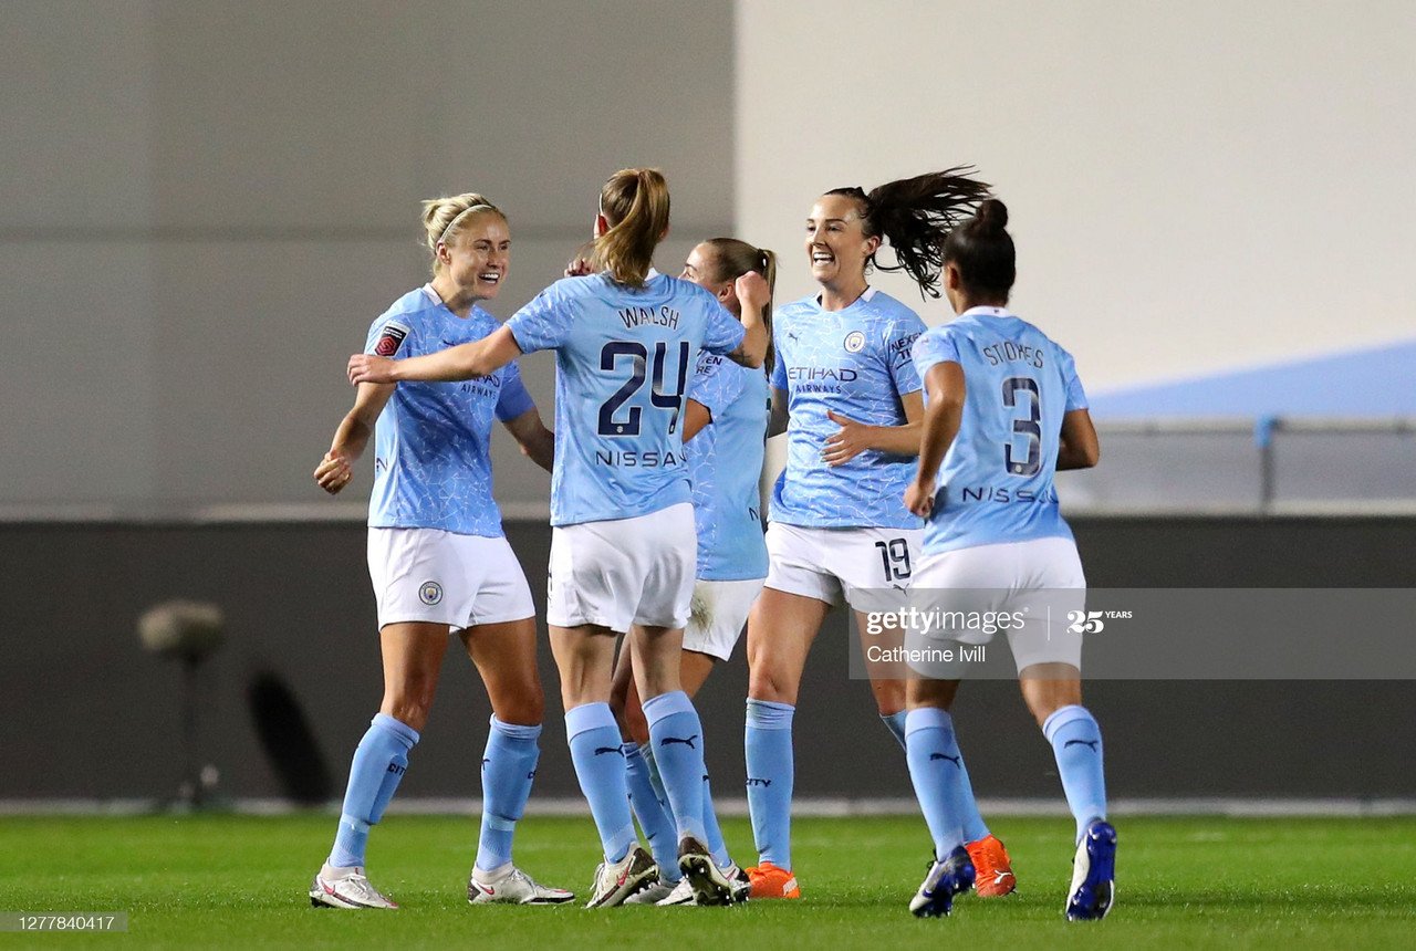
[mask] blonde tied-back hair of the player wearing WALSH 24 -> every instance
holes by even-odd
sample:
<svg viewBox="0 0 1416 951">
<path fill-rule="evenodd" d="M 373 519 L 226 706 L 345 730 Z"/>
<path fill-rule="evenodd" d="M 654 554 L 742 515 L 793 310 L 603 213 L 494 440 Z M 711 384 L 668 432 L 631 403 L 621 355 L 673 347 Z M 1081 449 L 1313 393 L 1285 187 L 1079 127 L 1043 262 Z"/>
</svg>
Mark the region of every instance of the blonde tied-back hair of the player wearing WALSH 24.
<svg viewBox="0 0 1416 951">
<path fill-rule="evenodd" d="M 610 280 L 643 287 L 654 249 L 668 231 L 668 183 L 658 168 L 622 168 L 600 188 L 609 231 L 595 239 L 596 267 Z"/>
</svg>

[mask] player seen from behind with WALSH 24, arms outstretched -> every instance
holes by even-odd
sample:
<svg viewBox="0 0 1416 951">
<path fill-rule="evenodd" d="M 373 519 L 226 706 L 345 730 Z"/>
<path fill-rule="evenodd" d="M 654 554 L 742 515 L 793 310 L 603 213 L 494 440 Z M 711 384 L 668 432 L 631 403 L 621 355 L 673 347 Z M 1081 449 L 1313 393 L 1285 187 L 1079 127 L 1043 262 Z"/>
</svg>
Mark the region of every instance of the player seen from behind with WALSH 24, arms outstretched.
<svg viewBox="0 0 1416 951">
<path fill-rule="evenodd" d="M 694 515 L 681 426 L 695 351 L 760 367 L 766 282 L 736 282 L 742 323 L 711 293 L 650 270 L 668 232 L 668 187 L 626 168 L 600 190 L 595 259 L 603 270 L 556 282 L 487 338 L 391 361 L 357 354 L 351 382 L 470 379 L 523 352 L 556 352 L 555 468 L 547 623 L 561 669 L 566 736 L 605 848 L 590 906 L 644 887 L 654 863 L 639 848 L 610 712 L 615 634 L 629 633 L 678 832 L 678 865 L 700 904 L 731 900 L 702 822 L 702 725 L 680 688 L 683 628 L 694 583 Z"/>
</svg>

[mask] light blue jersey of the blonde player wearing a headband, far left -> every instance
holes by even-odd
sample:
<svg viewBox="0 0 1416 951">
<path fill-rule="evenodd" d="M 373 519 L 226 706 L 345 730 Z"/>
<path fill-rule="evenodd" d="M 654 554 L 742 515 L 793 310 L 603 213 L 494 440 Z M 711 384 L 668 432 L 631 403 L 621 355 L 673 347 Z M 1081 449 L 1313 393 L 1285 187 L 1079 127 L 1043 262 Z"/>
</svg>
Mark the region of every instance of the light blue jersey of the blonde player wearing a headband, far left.
<svg viewBox="0 0 1416 951">
<path fill-rule="evenodd" d="M 419 357 L 481 340 L 500 324 L 473 307 L 447 310 L 432 286 L 411 290 L 368 330 L 367 354 Z M 374 426 L 374 528 L 501 535 L 491 498 L 491 419 L 535 409 L 514 362 L 460 384 L 399 384 Z"/>
</svg>

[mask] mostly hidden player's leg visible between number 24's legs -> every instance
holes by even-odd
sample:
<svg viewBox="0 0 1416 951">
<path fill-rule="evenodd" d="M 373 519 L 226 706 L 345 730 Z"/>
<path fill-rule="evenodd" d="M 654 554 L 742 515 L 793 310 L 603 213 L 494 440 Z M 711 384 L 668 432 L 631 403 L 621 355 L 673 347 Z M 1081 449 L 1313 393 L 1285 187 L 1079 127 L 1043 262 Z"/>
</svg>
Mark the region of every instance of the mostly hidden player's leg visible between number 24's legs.
<svg viewBox="0 0 1416 951">
<path fill-rule="evenodd" d="M 639 819 L 639 828 L 649 841 L 649 851 L 658 866 L 658 880 L 641 892 L 624 899 L 626 904 L 657 904 L 683 882 L 678 872 L 678 835 L 670 815 L 668 794 L 658 777 L 654 763 L 654 749 L 649 742 L 649 720 L 634 686 L 634 662 L 630 642 L 626 640 L 615 665 L 615 684 L 610 692 L 610 708 L 620 725 L 624 740 L 626 781 L 629 804 Z"/>
</svg>

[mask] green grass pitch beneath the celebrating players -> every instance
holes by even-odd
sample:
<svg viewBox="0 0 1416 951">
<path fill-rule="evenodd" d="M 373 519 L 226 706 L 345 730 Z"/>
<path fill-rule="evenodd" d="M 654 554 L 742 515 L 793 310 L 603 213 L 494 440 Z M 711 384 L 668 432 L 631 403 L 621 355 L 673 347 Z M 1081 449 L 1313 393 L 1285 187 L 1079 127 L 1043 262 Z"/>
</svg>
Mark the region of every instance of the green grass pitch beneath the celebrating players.
<svg viewBox="0 0 1416 951">
<path fill-rule="evenodd" d="M 575 948 L 1369 948 L 1416 944 L 1416 819 L 1131 818 L 1116 822 L 1117 906 L 1062 918 L 1072 826 L 993 821 L 1018 894 L 906 910 L 925 872 L 918 818 L 799 819 L 801 901 L 733 909 L 469 907 L 476 821 L 388 817 L 370 875 L 392 913 L 316 910 L 306 889 L 334 818 L 191 815 L 0 819 L 0 911 L 127 911 L 126 934 L 0 934 L 0 945 Z M 725 822 L 749 858 L 743 819 Z M 517 862 L 583 893 L 589 821 L 524 819 Z M 937 943 L 937 944 L 936 944 Z M 947 944 L 944 944 L 947 943 Z"/>
</svg>

